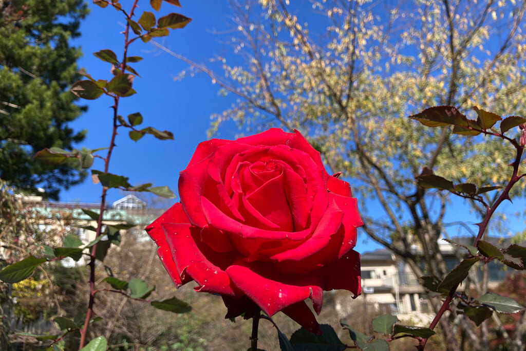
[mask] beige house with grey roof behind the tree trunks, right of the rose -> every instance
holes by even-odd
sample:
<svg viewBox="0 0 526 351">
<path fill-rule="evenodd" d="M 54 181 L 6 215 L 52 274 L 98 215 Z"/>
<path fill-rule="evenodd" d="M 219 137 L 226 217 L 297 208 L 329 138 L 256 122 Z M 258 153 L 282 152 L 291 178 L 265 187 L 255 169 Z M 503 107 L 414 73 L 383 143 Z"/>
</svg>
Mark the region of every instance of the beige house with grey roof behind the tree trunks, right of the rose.
<svg viewBox="0 0 526 351">
<path fill-rule="evenodd" d="M 466 243 L 471 242 L 467 238 Z M 488 238 L 486 238 L 488 240 Z M 489 238 L 493 244 L 499 245 L 497 238 Z M 507 243 L 509 244 L 509 243 Z M 448 270 L 460 262 L 453 246 L 443 240 L 439 245 Z M 460 251 L 463 254 L 462 251 Z M 480 274 L 479 266 L 479 276 Z M 423 269 L 423 262 L 422 262 Z M 506 277 L 505 266 L 494 260 L 488 264 L 488 285 L 496 287 Z M 379 249 L 361 255 L 362 296 L 367 305 L 372 306 L 382 314 L 395 314 L 400 319 L 427 320 L 432 317 L 431 305 L 426 290 L 422 287 L 410 267 L 388 249 Z M 462 287 L 460 287 L 462 289 Z"/>
</svg>

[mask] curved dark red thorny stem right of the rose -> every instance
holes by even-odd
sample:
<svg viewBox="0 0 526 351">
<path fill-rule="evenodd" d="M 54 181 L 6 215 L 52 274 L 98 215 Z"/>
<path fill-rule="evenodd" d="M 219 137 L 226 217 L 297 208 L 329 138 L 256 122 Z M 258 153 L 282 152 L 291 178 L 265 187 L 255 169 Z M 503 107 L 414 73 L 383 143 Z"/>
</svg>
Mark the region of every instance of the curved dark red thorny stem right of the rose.
<svg viewBox="0 0 526 351">
<path fill-rule="evenodd" d="M 504 137 L 503 135 L 499 135 L 499 136 Z M 495 200 L 495 202 L 493 203 L 491 207 L 486 206 L 486 215 L 484 216 L 484 219 L 482 220 L 482 222 L 477 224 L 479 226 L 479 233 L 477 234 L 477 238 L 475 239 L 475 242 L 473 243 L 473 246 L 475 247 L 477 247 L 478 243 L 482 239 L 482 235 L 484 234 L 486 228 L 488 227 L 491 216 L 493 215 L 495 210 L 497 210 L 497 207 L 499 207 L 499 205 L 504 200 L 510 199 L 511 188 L 515 185 L 515 183 L 519 182 L 519 180 L 525 175 L 525 174 L 519 175 L 519 164 L 521 162 L 522 153 L 524 152 L 524 146 L 519 145 L 517 141 L 515 141 L 514 139 L 509 139 L 509 138 L 505 138 L 505 139 L 508 139 L 511 142 L 511 144 L 515 147 L 515 149 L 517 149 L 517 155 L 515 156 L 515 161 L 513 161 L 513 163 L 510 165 L 513 167 L 513 172 L 511 174 L 510 181 L 508 185 L 504 188 L 502 194 L 500 194 L 500 196 L 497 198 L 497 200 Z M 429 325 L 429 329 L 434 329 L 434 327 L 437 326 L 444 312 L 446 312 L 446 310 L 449 309 L 449 304 L 451 303 L 451 300 L 453 299 L 455 292 L 457 291 L 457 288 L 459 285 L 460 283 L 457 283 L 451 288 L 451 290 L 449 290 L 448 296 L 442 303 L 442 306 L 438 310 L 437 315 L 433 318 L 431 324 Z M 421 338 L 417 346 L 417 349 L 423 350 L 426 347 L 427 340 L 428 338 Z"/>
</svg>

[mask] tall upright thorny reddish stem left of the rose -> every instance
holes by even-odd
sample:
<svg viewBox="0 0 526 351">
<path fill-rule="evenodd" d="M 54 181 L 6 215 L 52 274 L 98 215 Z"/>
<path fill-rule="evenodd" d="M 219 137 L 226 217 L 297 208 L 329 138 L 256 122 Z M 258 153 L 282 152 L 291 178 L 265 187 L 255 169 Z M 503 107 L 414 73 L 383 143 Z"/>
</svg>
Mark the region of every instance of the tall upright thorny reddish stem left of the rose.
<svg viewBox="0 0 526 351">
<path fill-rule="evenodd" d="M 131 19 L 134 15 L 135 8 L 137 7 L 137 2 L 139 0 L 134 0 L 133 5 L 131 6 L 130 13 L 127 15 L 128 19 Z M 124 52 L 123 52 L 123 60 L 120 64 L 120 71 L 124 72 L 124 69 L 126 68 L 126 56 L 128 53 L 128 45 L 130 42 L 128 42 L 128 36 L 129 36 L 129 23 L 126 23 L 126 30 L 124 32 Z M 106 158 L 104 158 L 104 173 L 108 173 L 109 169 L 109 160 L 112 157 L 113 148 L 115 147 L 115 137 L 117 136 L 117 128 L 118 128 L 118 106 L 119 106 L 119 96 L 114 96 L 114 105 L 113 108 L 113 129 L 112 129 L 112 138 L 109 143 L 108 147 L 108 153 L 106 155 Z M 100 207 L 99 207 L 99 216 L 97 219 L 97 232 L 95 234 L 95 239 L 98 238 L 102 234 L 102 220 L 103 220 L 103 214 L 104 214 L 104 208 L 106 205 L 106 193 L 108 191 L 107 187 L 102 188 L 102 195 L 100 196 Z M 89 320 L 93 316 L 93 305 L 95 304 L 95 294 L 97 290 L 95 289 L 95 254 L 97 252 L 97 244 L 92 246 L 92 250 L 89 254 L 89 302 L 88 302 L 88 309 L 86 312 L 86 318 L 84 319 L 84 327 L 80 329 L 80 343 L 78 346 L 78 349 L 81 349 L 86 344 L 86 336 L 88 334 L 88 328 L 89 328 Z"/>
</svg>

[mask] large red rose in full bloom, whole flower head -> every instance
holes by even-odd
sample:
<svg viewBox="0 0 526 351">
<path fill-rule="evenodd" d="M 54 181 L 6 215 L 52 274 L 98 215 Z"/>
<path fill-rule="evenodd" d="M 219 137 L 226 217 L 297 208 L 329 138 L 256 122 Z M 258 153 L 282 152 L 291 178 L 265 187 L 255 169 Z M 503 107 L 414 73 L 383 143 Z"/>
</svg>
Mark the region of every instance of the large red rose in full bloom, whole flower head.
<svg viewBox="0 0 526 351">
<path fill-rule="evenodd" d="M 323 290 L 360 294 L 356 199 L 299 132 L 200 143 L 179 196 L 146 230 L 175 284 L 221 295 L 226 318 L 281 310 L 319 332 L 306 298 L 319 314 Z"/>
</svg>

